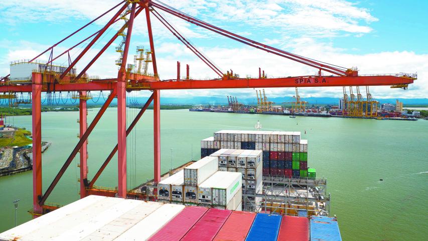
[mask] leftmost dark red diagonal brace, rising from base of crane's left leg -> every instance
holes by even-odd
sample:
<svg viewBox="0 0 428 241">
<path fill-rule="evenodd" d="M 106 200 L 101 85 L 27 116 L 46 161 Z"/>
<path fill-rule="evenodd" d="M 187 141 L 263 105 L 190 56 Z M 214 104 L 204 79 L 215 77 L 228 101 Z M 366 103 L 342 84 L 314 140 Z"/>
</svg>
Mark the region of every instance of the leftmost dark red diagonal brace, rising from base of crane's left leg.
<svg viewBox="0 0 428 241">
<path fill-rule="evenodd" d="M 41 74 L 39 74 L 41 76 Z M 43 196 L 39 196 L 39 205 L 42 206 L 46 199 L 48 198 L 48 196 L 51 194 L 52 190 L 54 189 L 54 187 L 57 185 L 58 181 L 61 179 L 62 175 L 64 174 L 64 172 L 67 170 L 68 166 L 70 166 L 71 162 L 73 161 L 74 157 L 76 156 L 77 152 L 80 150 L 80 148 L 82 147 L 83 143 L 86 141 L 86 139 L 88 139 L 88 136 L 91 134 L 91 132 L 94 130 L 95 126 L 98 124 L 99 119 L 101 118 L 101 116 L 104 114 L 105 110 L 107 109 L 108 105 L 111 103 L 111 101 L 113 100 L 113 98 L 116 96 L 116 91 L 113 90 L 113 92 L 108 96 L 108 98 L 105 100 L 104 104 L 102 105 L 101 109 L 98 111 L 98 113 L 95 115 L 95 118 L 93 119 L 93 121 L 91 122 L 91 125 L 89 125 L 88 129 L 85 131 L 85 134 L 83 134 L 83 136 L 80 138 L 79 142 L 77 143 L 77 145 L 74 147 L 73 151 L 71 152 L 70 156 L 67 158 L 67 160 L 65 161 L 64 165 L 61 167 L 60 171 L 58 172 L 58 174 L 55 176 L 54 180 L 52 181 L 51 185 L 48 187 L 48 189 L 46 190 L 45 194 Z M 40 111 L 39 111 L 40 113 Z M 33 123 L 34 124 L 34 123 Z M 34 140 L 33 140 L 34 142 Z M 42 141 L 40 140 L 39 143 L 42 143 Z M 40 182 L 41 185 L 41 182 Z"/>
</svg>

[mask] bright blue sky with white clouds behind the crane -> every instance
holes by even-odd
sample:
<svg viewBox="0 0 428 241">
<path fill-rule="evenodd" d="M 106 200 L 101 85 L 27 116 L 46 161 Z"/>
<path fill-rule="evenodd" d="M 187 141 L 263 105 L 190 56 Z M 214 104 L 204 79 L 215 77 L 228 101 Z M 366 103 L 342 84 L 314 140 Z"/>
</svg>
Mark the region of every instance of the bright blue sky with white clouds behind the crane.
<svg viewBox="0 0 428 241">
<path fill-rule="evenodd" d="M 243 37 L 323 62 L 357 67 L 360 74 L 417 73 L 418 79 L 408 90 L 373 86 L 374 98 L 428 98 L 428 1 L 170 1 L 163 0 L 182 12 Z M 92 19 L 119 4 L 118 0 L 32 0 L 0 1 L 0 76 L 9 74 L 11 61 L 31 59 L 73 33 Z M 113 12 L 89 25 L 70 39 L 54 47 L 54 55 L 98 31 Z M 313 75 L 317 71 L 291 60 L 251 48 L 158 10 L 184 36 L 191 40 L 223 72 L 232 69 L 241 77 L 257 76 L 258 67 L 268 76 Z M 78 62 L 81 70 L 123 25 L 118 22 L 100 38 Z M 217 77 L 152 16 L 158 69 L 161 79 L 177 76 L 190 65 L 192 78 Z M 70 51 L 74 59 L 89 41 Z M 117 39 L 100 59 L 89 68 L 89 75 L 116 77 L 114 64 L 119 55 Z M 145 13 L 134 22 L 127 63 L 133 63 L 136 46 L 150 48 Z M 50 52 L 40 60 L 48 60 Z M 68 58 L 56 62 L 67 64 Z M 149 67 L 149 72 L 153 72 Z M 182 74 L 184 75 L 184 74 Z M 266 88 L 268 97 L 294 95 L 294 88 Z M 355 89 L 354 89 L 355 91 Z M 254 95 L 253 89 L 165 90 L 162 96 Z M 365 90 L 362 91 L 365 94 Z M 149 91 L 136 95 L 148 96 Z M 341 87 L 307 87 L 300 96 L 340 97 Z M 96 95 L 93 93 L 93 95 Z"/>
</svg>

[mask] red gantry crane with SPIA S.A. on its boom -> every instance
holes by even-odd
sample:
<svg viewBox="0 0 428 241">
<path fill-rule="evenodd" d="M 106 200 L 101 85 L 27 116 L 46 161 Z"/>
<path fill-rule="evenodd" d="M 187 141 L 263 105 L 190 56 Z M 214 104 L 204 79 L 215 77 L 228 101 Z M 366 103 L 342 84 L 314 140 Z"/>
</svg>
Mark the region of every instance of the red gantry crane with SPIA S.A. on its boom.
<svg viewBox="0 0 428 241">
<path fill-rule="evenodd" d="M 137 71 L 127 68 L 126 60 L 129 52 L 129 43 L 132 35 L 133 22 L 141 12 L 146 14 L 146 22 L 148 28 L 150 50 L 146 50 L 149 56 L 147 61 L 153 65 L 153 75 L 149 75 L 147 71 Z M 187 38 L 185 38 L 175 27 L 173 27 L 160 12 L 170 14 L 179 19 L 187 21 L 191 24 L 207 29 L 224 37 L 238 41 L 242 44 L 257 48 L 286 59 L 296 61 L 315 68 L 318 71 L 317 75 L 302 75 L 295 77 L 280 77 L 280 78 L 267 78 L 264 74 L 259 74 L 256 78 L 239 78 L 239 75 L 233 74 L 233 71 L 224 73 L 212 61 L 202 54 Z M 62 42 L 76 35 L 82 29 L 91 25 L 103 16 L 108 16 L 114 13 L 109 21 L 99 31 L 84 38 L 79 43 L 61 53 L 58 56 L 53 55 L 55 47 Z M 152 31 L 153 17 L 162 23 L 177 39 L 189 48 L 198 58 L 201 59 L 212 71 L 217 75 L 216 78 L 210 80 L 198 79 L 181 79 L 178 75 L 177 79 L 161 80 L 159 78 L 156 51 L 154 45 L 154 33 Z M 125 20 L 123 26 L 111 36 L 107 43 L 101 50 L 93 56 L 92 60 L 80 71 L 77 72 L 75 65 L 88 54 L 94 44 L 104 34 L 106 30 L 112 27 L 112 24 Z M 116 48 L 120 53 L 120 58 L 116 61 L 119 66 L 117 76 L 112 76 L 108 79 L 91 78 L 87 75 L 90 67 L 100 58 L 105 50 L 117 39 L 121 37 L 122 41 Z M 82 45 L 85 41 L 89 43 L 74 59 L 70 58 L 69 52 L 77 46 Z M 38 60 L 40 56 L 50 52 L 49 60 L 42 63 Z M 63 69 L 53 65 L 53 61 L 57 58 L 67 54 L 69 59 L 68 66 Z M 141 55 L 140 55 L 141 57 Z M 155 183 L 161 179 L 161 146 L 160 146 L 160 93 L 164 89 L 214 89 L 214 88 L 267 88 L 267 87 L 328 87 L 328 86 L 370 86 L 370 85 L 391 85 L 393 87 L 406 88 L 408 84 L 413 83 L 416 79 L 415 74 L 378 74 L 378 75 L 360 75 L 357 69 L 344 68 L 333 64 L 317 61 L 297 54 L 293 54 L 278 48 L 268 46 L 263 43 L 242 37 L 240 35 L 231 33 L 222 28 L 211 25 L 200 19 L 194 18 L 186 13 L 183 13 L 171 6 L 168 6 L 160 1 L 154 0 L 127 0 L 120 1 L 115 7 L 95 18 L 88 24 L 74 31 L 72 34 L 52 45 L 47 50 L 36 56 L 31 60 L 23 61 L 21 64 L 29 63 L 42 63 L 43 68 L 35 70 L 31 74 L 31 78 L 26 80 L 14 80 L 10 78 L 10 74 L 0 79 L 0 92 L 16 93 L 16 92 L 29 92 L 31 93 L 32 102 L 32 124 L 33 124 L 33 213 L 42 214 L 49 209 L 45 205 L 45 201 L 53 191 L 54 187 L 61 179 L 65 170 L 71 164 L 73 158 L 79 152 L 80 154 L 80 196 L 85 197 L 88 194 L 101 194 L 101 195 L 115 195 L 115 192 L 102 192 L 95 190 L 93 185 L 98 179 L 104 168 L 108 165 L 114 154 L 117 152 L 117 166 L 118 166 L 118 188 L 117 196 L 126 197 L 126 136 L 130 133 L 132 128 L 136 125 L 142 114 L 153 101 L 154 104 L 154 180 Z M 60 70 L 59 70 L 60 69 Z M 188 71 L 188 70 L 187 70 Z M 329 75 L 322 75 L 323 72 Z M 286 74 L 284 74 L 286 75 Z M 88 99 L 88 91 L 110 91 L 108 98 L 102 105 L 99 112 L 96 114 L 92 123 L 87 125 L 86 119 L 86 100 Z M 147 90 L 153 91 L 148 101 L 142 106 L 141 110 L 136 115 L 135 119 L 126 128 L 126 91 L 133 90 Z M 74 147 L 73 151 L 65 160 L 64 165 L 59 170 L 58 174 L 52 183 L 42 192 L 42 158 L 41 158 L 41 93 L 42 92 L 55 92 L 55 91 L 78 91 L 79 92 L 79 107 L 80 107 L 80 140 Z M 117 145 L 106 158 L 105 162 L 90 179 L 87 172 L 87 138 L 97 125 L 99 119 L 111 103 L 113 98 L 117 97 Z"/>
</svg>

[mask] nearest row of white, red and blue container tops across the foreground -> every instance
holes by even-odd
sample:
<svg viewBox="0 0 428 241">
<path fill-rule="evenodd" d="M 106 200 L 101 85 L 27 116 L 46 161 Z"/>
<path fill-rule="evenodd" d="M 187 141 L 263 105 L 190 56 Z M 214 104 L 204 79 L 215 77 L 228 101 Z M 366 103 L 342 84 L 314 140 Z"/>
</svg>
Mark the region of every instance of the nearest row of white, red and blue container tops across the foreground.
<svg viewBox="0 0 428 241">
<path fill-rule="evenodd" d="M 0 240 L 341 240 L 336 218 L 209 209 L 90 195 L 0 233 Z"/>
</svg>

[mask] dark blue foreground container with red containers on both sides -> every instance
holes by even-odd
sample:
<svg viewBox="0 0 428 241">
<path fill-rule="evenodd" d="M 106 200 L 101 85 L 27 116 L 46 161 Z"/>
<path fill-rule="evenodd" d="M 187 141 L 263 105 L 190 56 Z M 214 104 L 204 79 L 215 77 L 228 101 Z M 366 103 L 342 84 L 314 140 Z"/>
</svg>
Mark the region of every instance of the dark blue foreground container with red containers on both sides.
<svg viewBox="0 0 428 241">
<path fill-rule="evenodd" d="M 281 225 L 281 218 L 280 215 L 257 213 L 245 240 L 276 241 L 279 226 Z"/>
</svg>

